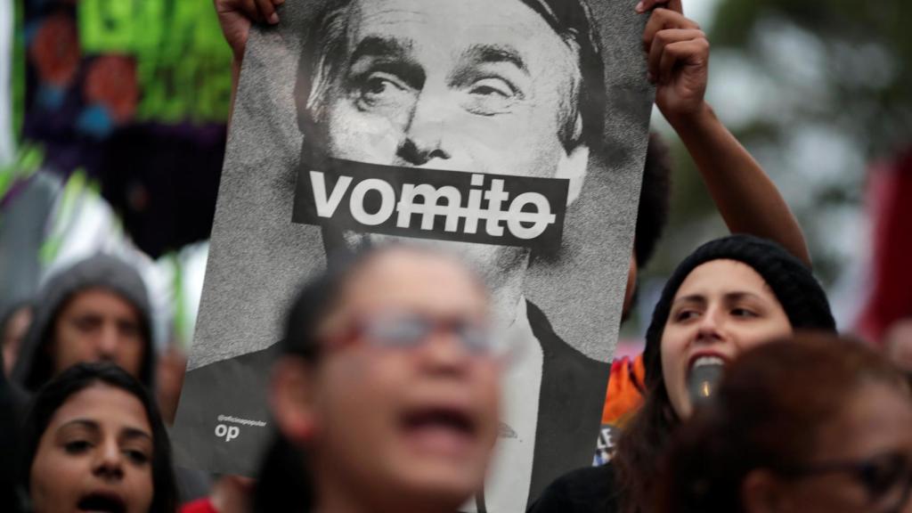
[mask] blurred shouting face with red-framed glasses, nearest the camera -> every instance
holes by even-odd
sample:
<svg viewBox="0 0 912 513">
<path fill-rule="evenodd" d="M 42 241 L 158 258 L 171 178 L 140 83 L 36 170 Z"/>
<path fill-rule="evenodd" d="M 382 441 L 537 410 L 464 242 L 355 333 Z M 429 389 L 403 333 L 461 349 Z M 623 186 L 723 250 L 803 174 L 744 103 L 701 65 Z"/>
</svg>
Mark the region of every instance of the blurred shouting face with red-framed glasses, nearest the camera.
<svg viewBox="0 0 912 513">
<path fill-rule="evenodd" d="M 498 424 L 487 295 L 447 258 L 370 258 L 320 328 L 316 365 L 280 364 L 277 389 L 285 374 L 300 397 L 279 423 L 309 448 L 320 500 L 335 489 L 368 508 L 458 508 L 482 486 Z"/>
</svg>

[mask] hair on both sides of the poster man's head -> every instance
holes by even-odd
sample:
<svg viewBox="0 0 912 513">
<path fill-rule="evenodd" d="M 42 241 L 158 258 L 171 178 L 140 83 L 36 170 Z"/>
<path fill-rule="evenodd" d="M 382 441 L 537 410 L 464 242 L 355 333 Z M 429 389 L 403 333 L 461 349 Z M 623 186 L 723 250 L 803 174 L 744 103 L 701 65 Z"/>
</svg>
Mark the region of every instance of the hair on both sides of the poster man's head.
<svg viewBox="0 0 912 513">
<path fill-rule="evenodd" d="M 597 148 L 605 126 L 605 65 L 599 38 L 585 0 L 518 0 L 529 6 L 554 29 L 576 56 L 578 75 L 558 133 L 569 152 L 579 144 Z M 304 37 L 295 82 L 298 126 L 307 139 L 319 141 L 316 125 L 323 120 L 333 79 L 347 65 L 347 34 L 354 0 L 326 0 L 309 24 Z M 576 120 L 582 118 L 581 130 Z"/>
</svg>

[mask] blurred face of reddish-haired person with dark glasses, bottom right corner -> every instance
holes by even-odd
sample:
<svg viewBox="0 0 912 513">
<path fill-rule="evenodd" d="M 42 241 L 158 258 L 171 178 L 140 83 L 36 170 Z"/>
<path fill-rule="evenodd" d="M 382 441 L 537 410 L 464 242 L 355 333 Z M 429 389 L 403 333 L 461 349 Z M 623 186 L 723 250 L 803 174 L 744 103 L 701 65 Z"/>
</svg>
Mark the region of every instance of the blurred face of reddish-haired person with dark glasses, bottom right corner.
<svg viewBox="0 0 912 513">
<path fill-rule="evenodd" d="M 801 476 L 781 481 L 751 511 L 912 511 L 912 402 L 881 382 L 858 389 L 816 434 Z M 762 505 L 770 505 L 766 508 Z M 759 507 L 759 508 L 758 508 Z"/>
</svg>

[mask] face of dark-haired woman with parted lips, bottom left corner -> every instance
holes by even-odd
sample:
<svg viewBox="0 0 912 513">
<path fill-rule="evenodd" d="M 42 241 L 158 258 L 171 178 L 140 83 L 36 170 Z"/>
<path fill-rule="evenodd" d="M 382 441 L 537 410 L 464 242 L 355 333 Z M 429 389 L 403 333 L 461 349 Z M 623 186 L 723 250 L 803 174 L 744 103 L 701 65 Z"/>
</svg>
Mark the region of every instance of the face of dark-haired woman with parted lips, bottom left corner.
<svg viewBox="0 0 912 513">
<path fill-rule="evenodd" d="M 144 513 L 152 501 L 152 431 L 140 400 L 106 384 L 74 393 L 38 443 L 36 513 Z"/>
</svg>

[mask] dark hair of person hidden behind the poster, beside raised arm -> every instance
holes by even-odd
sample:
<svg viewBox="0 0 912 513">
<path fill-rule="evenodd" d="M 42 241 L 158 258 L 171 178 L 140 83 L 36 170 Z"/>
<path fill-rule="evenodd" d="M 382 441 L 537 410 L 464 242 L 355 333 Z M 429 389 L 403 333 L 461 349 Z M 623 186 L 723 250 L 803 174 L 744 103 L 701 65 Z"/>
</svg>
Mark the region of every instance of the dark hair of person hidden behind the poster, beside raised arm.
<svg viewBox="0 0 912 513">
<path fill-rule="evenodd" d="M 646 267 L 668 224 L 671 159 L 668 144 L 658 132 L 649 133 L 643 184 L 639 189 L 637 227 L 633 239 L 637 267 Z"/>
</svg>

